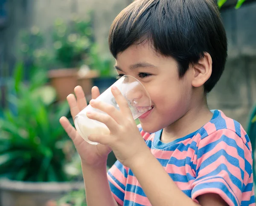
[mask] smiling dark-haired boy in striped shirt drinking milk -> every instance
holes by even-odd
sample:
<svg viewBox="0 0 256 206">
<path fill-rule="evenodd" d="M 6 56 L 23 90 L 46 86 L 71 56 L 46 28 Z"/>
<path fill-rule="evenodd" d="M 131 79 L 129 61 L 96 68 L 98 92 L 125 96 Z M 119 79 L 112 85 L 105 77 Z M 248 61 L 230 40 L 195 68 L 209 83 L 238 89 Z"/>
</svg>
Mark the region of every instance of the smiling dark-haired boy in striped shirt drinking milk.
<svg viewBox="0 0 256 206">
<path fill-rule="evenodd" d="M 91 100 L 107 114 L 87 113 L 109 135 L 85 142 L 67 118 L 60 122 L 81 156 L 89 206 L 255 205 L 250 140 L 242 126 L 209 111 L 206 94 L 218 82 L 227 39 L 213 0 L 135 0 L 114 20 L 109 47 L 119 76 L 137 77 L 153 109 L 137 128 L 127 102 L 120 111 Z M 73 117 L 86 106 L 81 87 L 67 100 Z M 92 97 L 99 90 L 92 89 Z M 143 138 L 141 138 L 143 137 Z M 117 162 L 106 171 L 113 150 Z"/>
</svg>

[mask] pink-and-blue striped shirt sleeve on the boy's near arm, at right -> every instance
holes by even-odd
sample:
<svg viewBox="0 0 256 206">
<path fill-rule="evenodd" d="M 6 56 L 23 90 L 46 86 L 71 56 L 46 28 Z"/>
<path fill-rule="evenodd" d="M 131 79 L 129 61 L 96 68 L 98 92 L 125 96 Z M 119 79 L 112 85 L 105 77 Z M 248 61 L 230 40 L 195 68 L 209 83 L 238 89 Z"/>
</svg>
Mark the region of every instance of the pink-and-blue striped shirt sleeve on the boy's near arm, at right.
<svg viewBox="0 0 256 206">
<path fill-rule="evenodd" d="M 201 137 L 195 152 L 196 179 L 191 197 L 215 193 L 230 206 L 240 206 L 252 179 L 252 153 L 244 138 L 229 129 Z"/>
</svg>

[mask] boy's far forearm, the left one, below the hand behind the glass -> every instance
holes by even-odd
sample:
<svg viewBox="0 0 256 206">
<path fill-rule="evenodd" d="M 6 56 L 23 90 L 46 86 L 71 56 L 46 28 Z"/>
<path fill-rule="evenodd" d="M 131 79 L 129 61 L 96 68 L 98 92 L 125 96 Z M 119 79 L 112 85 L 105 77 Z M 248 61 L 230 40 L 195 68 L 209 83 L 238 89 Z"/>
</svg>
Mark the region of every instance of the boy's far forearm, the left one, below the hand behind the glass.
<svg viewBox="0 0 256 206">
<path fill-rule="evenodd" d="M 111 194 L 108 183 L 106 166 L 90 168 L 83 163 L 82 171 L 84 177 L 86 201 L 88 206 L 118 206 Z"/>
</svg>

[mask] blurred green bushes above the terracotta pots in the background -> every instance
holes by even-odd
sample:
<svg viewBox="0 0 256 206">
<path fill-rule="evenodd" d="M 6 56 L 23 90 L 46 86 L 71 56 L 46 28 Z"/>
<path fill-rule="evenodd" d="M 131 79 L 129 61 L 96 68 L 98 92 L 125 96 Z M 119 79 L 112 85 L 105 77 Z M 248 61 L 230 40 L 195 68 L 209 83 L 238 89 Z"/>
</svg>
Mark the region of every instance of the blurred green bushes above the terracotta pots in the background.
<svg viewBox="0 0 256 206">
<path fill-rule="evenodd" d="M 86 64 L 103 77 L 113 76 L 113 59 L 102 55 L 94 41 L 93 13 L 80 19 L 73 15 L 70 21 L 58 18 L 48 33 L 38 27 L 20 32 L 20 59 L 26 68 L 79 68 Z"/>
</svg>

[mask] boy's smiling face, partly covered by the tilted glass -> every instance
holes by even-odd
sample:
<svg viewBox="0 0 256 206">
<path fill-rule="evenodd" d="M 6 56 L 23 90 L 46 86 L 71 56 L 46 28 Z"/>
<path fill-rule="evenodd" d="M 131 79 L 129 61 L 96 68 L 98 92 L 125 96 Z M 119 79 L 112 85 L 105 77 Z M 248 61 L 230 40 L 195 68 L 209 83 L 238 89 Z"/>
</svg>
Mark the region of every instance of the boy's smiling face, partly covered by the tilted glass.
<svg viewBox="0 0 256 206">
<path fill-rule="evenodd" d="M 118 54 L 116 70 L 118 74 L 140 80 L 151 97 L 154 108 L 146 117 L 140 118 L 145 132 L 157 132 L 189 112 L 191 71 L 188 70 L 180 79 L 177 62 L 171 57 L 156 54 L 147 43 L 131 46 Z"/>
</svg>

